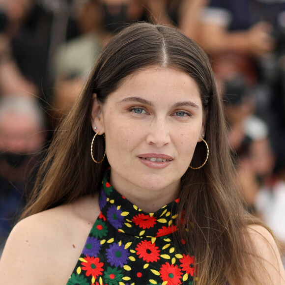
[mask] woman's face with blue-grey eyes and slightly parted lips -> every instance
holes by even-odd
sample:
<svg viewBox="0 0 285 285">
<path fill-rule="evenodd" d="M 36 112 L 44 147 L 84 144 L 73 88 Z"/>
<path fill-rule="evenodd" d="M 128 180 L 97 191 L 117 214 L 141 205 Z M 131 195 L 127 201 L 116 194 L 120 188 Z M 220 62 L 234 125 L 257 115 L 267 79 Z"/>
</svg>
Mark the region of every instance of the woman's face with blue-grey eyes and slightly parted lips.
<svg viewBox="0 0 285 285">
<path fill-rule="evenodd" d="M 174 193 L 204 133 L 198 85 L 176 69 L 143 69 L 128 77 L 103 106 L 93 100 L 92 126 L 105 133 L 117 191 Z"/>
</svg>

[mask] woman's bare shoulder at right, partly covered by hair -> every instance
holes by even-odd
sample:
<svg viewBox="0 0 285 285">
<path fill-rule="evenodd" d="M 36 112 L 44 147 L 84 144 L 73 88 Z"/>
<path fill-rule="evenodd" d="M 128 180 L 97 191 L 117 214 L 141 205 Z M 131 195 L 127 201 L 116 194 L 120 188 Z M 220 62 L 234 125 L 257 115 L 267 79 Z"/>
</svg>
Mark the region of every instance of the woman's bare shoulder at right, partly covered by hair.
<svg viewBox="0 0 285 285">
<path fill-rule="evenodd" d="M 278 246 L 272 234 L 260 225 L 250 225 L 248 226 L 248 231 L 256 253 L 260 256 L 261 263 L 266 269 L 268 277 L 271 279 L 264 284 L 285 285 L 284 265 L 282 264 Z M 262 273 L 260 272 L 260 274 Z"/>
</svg>

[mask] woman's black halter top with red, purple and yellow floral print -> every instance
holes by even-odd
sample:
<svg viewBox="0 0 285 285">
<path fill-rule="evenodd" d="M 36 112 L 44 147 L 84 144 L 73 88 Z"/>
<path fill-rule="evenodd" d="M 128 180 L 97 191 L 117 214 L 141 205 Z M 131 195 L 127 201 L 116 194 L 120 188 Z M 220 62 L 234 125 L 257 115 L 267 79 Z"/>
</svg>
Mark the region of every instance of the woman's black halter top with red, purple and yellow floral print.
<svg viewBox="0 0 285 285">
<path fill-rule="evenodd" d="M 179 199 L 146 213 L 108 182 L 99 198 L 101 213 L 67 285 L 192 285 L 194 256 L 173 241 Z"/>
</svg>

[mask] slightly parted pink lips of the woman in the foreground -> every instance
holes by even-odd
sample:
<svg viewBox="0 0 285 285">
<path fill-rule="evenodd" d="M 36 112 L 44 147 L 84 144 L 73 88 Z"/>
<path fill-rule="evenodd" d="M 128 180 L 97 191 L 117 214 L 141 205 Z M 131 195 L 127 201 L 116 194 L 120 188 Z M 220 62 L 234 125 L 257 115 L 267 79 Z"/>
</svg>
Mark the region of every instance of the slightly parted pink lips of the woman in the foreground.
<svg viewBox="0 0 285 285">
<path fill-rule="evenodd" d="M 138 158 L 142 164 L 153 169 L 164 169 L 168 167 L 173 160 L 172 156 L 158 153 L 143 153 L 138 155 Z M 158 159 L 159 161 L 154 161 L 154 159 Z"/>
</svg>

